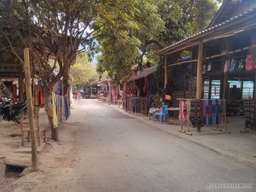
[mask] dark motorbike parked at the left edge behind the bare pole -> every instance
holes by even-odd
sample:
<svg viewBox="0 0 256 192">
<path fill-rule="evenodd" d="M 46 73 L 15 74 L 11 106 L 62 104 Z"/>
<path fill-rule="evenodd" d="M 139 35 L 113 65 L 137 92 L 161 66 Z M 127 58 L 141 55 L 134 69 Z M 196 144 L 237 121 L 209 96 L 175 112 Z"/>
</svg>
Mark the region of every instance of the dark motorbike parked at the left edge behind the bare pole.
<svg viewBox="0 0 256 192">
<path fill-rule="evenodd" d="M 2 99 L 0 104 L 0 122 L 2 120 L 13 120 L 20 124 L 21 118 L 26 115 L 26 102 L 13 102 L 10 98 Z"/>
</svg>

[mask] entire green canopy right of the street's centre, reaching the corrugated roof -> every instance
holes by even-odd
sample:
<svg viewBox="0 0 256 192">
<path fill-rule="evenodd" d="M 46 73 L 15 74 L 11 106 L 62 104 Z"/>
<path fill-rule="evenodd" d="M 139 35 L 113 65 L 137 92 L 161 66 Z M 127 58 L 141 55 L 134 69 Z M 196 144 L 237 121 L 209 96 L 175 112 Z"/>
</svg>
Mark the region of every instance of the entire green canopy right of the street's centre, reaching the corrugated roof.
<svg viewBox="0 0 256 192">
<path fill-rule="evenodd" d="M 101 26 L 106 18 L 112 19 L 96 33 L 96 39 L 102 52 L 98 68 L 107 70 L 115 79 L 143 61 L 158 64 L 155 50 L 203 30 L 218 9 L 215 0 L 133 2 L 132 6 L 123 3 L 129 11 L 108 12 L 111 16 L 100 15 L 96 20 L 96 26 Z M 113 22 L 116 18 L 119 22 Z"/>
</svg>

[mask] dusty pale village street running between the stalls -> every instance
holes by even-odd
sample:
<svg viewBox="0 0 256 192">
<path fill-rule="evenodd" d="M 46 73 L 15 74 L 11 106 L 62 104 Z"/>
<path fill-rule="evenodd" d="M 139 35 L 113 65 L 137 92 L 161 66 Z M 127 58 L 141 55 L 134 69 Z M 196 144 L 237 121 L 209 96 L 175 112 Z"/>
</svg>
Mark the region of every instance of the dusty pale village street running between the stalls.
<svg viewBox="0 0 256 192">
<path fill-rule="evenodd" d="M 144 125 L 106 103 L 76 101 L 64 124 L 60 146 L 67 153 L 55 157 L 57 165 L 45 163 L 51 154 L 41 154 L 43 171 L 20 177 L 15 192 L 256 191 L 256 167 Z M 208 183 L 253 183 L 253 189 L 207 189 Z"/>
</svg>

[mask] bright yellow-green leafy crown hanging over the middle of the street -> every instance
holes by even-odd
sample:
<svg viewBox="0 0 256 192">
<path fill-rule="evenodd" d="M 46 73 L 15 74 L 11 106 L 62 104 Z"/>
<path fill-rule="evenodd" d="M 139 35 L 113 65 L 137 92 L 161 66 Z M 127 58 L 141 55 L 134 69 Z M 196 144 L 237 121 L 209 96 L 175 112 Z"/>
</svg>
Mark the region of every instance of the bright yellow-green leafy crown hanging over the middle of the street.
<svg viewBox="0 0 256 192">
<path fill-rule="evenodd" d="M 164 23 L 154 1 L 125 1 L 114 6 L 121 11 L 113 11 L 112 4 L 104 4 L 105 14 L 96 20 L 96 26 L 106 24 L 95 33 L 102 52 L 97 67 L 119 81 L 132 66 L 142 64 L 150 40 L 160 34 Z"/>
</svg>

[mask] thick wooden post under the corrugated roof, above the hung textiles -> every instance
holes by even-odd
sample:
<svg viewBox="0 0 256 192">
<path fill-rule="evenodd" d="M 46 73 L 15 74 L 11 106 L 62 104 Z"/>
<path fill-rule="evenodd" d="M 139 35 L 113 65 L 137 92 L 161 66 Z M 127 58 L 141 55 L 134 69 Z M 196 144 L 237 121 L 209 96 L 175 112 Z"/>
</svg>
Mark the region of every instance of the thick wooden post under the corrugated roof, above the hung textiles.
<svg viewBox="0 0 256 192">
<path fill-rule="evenodd" d="M 202 53 L 203 42 L 199 43 L 198 47 L 198 61 L 197 61 L 197 79 L 196 79 L 196 99 L 201 99 L 202 90 Z"/>
</svg>

